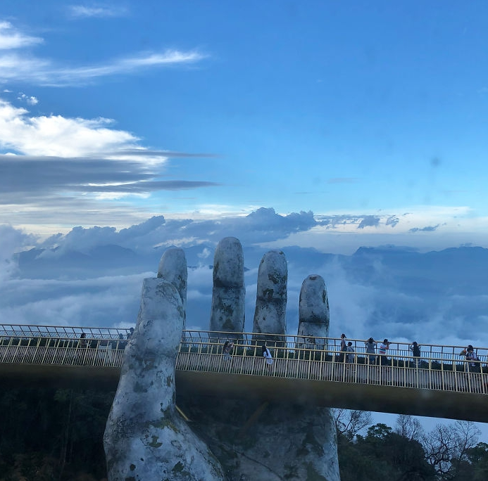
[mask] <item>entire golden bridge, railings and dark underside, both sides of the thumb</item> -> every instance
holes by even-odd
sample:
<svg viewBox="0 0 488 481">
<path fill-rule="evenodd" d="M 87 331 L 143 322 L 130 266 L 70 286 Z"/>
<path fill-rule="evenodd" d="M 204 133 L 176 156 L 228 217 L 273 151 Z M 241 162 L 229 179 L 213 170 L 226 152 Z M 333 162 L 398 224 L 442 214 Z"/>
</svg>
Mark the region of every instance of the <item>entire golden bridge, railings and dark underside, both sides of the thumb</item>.
<svg viewBox="0 0 488 481">
<path fill-rule="evenodd" d="M 119 328 L 0 325 L 0 379 L 115 390 L 129 338 Z M 234 342 L 230 359 L 225 340 Z M 366 353 L 364 340 L 351 342 L 354 359 L 336 338 L 183 331 L 176 394 L 488 422 L 487 348 L 475 347 L 480 361 L 469 366 L 461 346 L 422 345 L 419 358 L 401 342 L 386 356 Z"/>
</svg>

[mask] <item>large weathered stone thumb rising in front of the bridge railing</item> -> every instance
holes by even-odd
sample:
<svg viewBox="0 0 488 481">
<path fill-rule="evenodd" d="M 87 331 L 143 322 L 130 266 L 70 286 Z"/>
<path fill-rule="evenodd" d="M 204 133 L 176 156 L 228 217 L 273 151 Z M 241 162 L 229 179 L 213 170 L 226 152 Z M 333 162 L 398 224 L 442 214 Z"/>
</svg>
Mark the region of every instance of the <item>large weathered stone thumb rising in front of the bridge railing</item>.
<svg viewBox="0 0 488 481">
<path fill-rule="evenodd" d="M 175 410 L 183 316 L 172 283 L 144 279 L 104 435 L 109 481 L 224 480 L 218 461 Z"/>
</svg>

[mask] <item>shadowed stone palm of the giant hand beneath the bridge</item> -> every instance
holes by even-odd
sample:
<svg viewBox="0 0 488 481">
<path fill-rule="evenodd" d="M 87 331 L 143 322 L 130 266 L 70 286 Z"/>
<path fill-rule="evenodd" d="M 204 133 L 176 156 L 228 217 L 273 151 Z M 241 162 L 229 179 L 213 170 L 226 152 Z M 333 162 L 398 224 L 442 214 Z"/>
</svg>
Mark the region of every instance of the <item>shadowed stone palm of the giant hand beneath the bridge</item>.
<svg viewBox="0 0 488 481">
<path fill-rule="evenodd" d="M 178 400 L 230 479 L 339 481 L 330 410 L 316 406 L 192 397 Z"/>
</svg>

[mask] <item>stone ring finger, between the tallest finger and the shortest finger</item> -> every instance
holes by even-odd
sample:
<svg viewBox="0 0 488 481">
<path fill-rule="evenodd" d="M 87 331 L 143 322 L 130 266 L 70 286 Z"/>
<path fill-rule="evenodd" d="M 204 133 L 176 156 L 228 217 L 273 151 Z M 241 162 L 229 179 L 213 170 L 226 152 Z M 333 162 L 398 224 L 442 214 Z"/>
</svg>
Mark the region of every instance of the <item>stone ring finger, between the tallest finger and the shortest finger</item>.
<svg viewBox="0 0 488 481">
<path fill-rule="evenodd" d="M 287 332 L 287 281 L 284 253 L 278 250 L 266 252 L 258 269 L 253 333 Z"/>
</svg>

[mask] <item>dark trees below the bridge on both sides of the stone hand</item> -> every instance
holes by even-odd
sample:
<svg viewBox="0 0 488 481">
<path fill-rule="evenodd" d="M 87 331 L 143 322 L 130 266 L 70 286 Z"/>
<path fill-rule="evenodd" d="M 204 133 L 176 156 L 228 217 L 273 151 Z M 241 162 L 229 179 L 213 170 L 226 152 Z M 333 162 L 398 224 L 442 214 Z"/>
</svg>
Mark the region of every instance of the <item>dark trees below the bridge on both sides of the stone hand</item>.
<svg viewBox="0 0 488 481">
<path fill-rule="evenodd" d="M 113 392 L 15 389 L 0 393 L 0 481 L 101 481 Z M 365 411 L 333 411 L 342 481 L 486 481 L 488 444 L 474 423 L 417 418 L 371 425 Z M 363 433 L 363 434 L 361 434 Z"/>
</svg>

